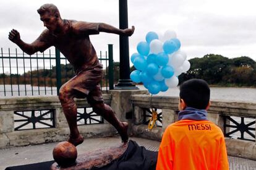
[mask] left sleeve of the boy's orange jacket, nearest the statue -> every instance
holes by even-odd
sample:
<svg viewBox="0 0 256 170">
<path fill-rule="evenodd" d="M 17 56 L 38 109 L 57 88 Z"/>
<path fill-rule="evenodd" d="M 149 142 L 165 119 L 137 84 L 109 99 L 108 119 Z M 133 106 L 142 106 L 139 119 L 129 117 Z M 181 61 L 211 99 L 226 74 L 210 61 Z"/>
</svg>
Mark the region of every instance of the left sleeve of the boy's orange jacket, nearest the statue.
<svg viewBox="0 0 256 170">
<path fill-rule="evenodd" d="M 158 151 L 156 170 L 173 170 L 173 154 L 169 134 L 166 129 Z"/>
</svg>

